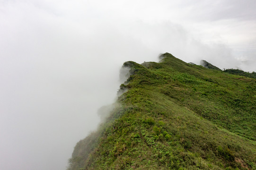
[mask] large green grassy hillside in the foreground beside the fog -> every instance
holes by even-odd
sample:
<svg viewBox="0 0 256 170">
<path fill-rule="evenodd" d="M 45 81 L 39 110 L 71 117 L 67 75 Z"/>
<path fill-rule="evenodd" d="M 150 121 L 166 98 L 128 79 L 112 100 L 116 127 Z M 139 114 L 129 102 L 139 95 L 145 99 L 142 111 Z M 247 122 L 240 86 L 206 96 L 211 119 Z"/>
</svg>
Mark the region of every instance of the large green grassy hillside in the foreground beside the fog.
<svg viewBox="0 0 256 170">
<path fill-rule="evenodd" d="M 68 170 L 256 170 L 255 78 L 169 53 L 123 67 L 126 92 Z"/>
</svg>

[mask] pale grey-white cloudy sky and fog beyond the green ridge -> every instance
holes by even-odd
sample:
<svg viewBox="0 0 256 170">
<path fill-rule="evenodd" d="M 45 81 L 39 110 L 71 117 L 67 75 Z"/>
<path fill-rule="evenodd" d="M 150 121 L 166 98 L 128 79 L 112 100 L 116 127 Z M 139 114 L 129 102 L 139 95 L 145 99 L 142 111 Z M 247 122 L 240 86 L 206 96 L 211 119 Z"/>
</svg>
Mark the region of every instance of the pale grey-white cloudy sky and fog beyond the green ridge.
<svg viewBox="0 0 256 170">
<path fill-rule="evenodd" d="M 0 170 L 65 170 L 125 61 L 256 71 L 255 0 L 0 0 Z"/>
</svg>

